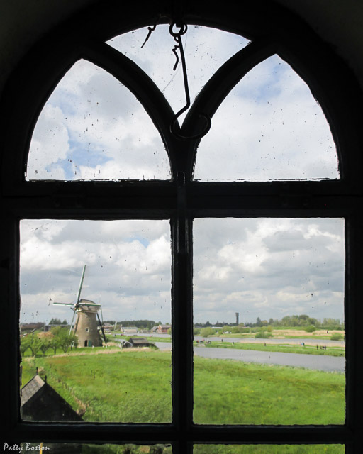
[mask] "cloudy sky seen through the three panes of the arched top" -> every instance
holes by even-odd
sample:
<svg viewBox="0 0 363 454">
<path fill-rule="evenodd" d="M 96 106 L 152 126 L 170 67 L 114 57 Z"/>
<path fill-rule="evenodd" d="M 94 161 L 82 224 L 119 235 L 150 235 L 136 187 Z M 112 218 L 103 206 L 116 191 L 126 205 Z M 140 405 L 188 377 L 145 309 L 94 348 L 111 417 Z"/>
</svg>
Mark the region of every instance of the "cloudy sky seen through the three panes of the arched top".
<svg viewBox="0 0 363 454">
<path fill-rule="evenodd" d="M 174 39 L 157 26 L 108 42 L 154 80 L 175 112 L 185 104 Z M 244 38 L 189 26 L 183 37 L 191 100 Z M 233 89 L 201 140 L 195 178 L 338 178 L 335 144 L 310 90 L 274 55 Z M 30 144 L 28 179 L 169 179 L 160 135 L 143 107 L 99 67 L 79 60 L 41 112 Z"/>
</svg>

